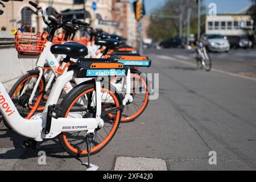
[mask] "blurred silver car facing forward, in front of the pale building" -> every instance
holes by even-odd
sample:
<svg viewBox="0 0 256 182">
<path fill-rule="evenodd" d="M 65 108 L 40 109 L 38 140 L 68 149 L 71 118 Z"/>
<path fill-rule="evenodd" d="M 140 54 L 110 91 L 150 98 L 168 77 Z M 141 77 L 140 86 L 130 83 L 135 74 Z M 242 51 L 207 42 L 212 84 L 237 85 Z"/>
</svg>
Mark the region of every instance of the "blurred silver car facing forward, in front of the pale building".
<svg viewBox="0 0 256 182">
<path fill-rule="evenodd" d="M 218 34 L 205 34 L 201 38 L 201 42 L 212 52 L 229 52 L 230 44 L 226 36 Z"/>
</svg>

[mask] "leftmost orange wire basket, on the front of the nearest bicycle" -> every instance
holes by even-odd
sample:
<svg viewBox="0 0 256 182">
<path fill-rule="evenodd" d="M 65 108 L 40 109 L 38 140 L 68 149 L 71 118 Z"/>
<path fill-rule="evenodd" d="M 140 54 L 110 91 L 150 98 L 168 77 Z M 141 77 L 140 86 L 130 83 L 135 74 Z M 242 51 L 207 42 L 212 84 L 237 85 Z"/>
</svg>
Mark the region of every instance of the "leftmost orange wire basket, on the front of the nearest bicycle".
<svg viewBox="0 0 256 182">
<path fill-rule="evenodd" d="M 15 48 L 20 56 L 39 56 L 44 51 L 47 43 L 48 32 L 32 33 L 30 26 L 23 26 L 22 28 L 29 28 L 29 32 L 17 32 L 15 36 Z"/>
</svg>

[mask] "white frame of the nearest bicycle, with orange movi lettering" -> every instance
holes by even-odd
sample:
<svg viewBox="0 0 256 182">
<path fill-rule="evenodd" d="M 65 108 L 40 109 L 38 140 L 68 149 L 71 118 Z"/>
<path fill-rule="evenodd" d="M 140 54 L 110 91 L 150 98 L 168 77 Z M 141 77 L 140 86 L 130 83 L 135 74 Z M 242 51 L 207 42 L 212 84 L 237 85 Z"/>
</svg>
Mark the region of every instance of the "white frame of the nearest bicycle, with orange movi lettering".
<svg viewBox="0 0 256 182">
<path fill-rule="evenodd" d="M 50 54 L 48 57 L 53 59 L 54 56 Z M 57 77 L 43 113 L 36 114 L 31 119 L 24 119 L 20 116 L 2 82 L 0 82 L 0 111 L 3 117 L 5 117 L 6 122 L 16 133 L 36 141 L 54 138 L 61 132 L 68 131 L 87 131 L 88 133 L 93 133 L 98 127 L 103 127 L 104 121 L 100 118 L 101 82 L 96 80 L 96 118 L 52 118 L 50 133 L 44 134 L 43 129 L 46 127 L 48 106 L 57 104 L 63 87 L 73 79 L 73 74 L 73 71 L 68 71 L 68 68 L 66 68 L 63 75 Z"/>
</svg>

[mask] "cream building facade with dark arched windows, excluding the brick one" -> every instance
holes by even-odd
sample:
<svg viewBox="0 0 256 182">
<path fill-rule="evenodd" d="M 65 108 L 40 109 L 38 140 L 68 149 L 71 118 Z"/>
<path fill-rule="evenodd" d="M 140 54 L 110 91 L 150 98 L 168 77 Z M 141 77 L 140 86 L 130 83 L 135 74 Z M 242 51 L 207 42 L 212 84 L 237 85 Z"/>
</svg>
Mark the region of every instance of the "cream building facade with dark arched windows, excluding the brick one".
<svg viewBox="0 0 256 182">
<path fill-rule="evenodd" d="M 31 7 L 28 4 L 29 0 L 24 0 L 23 2 L 19 1 L 9 1 L 6 2 L 5 13 L 1 16 L 0 26 L 5 27 L 7 31 L 10 31 L 14 28 L 20 27 L 23 24 L 28 24 L 35 31 L 42 31 L 43 28 L 46 28 L 46 25 L 43 23 L 42 19 L 32 14 L 30 11 L 26 10 L 26 7 Z M 73 0 L 54 0 L 52 1 L 52 5 L 49 5 L 49 0 L 38 0 L 35 2 L 39 3 L 40 6 L 43 7 L 46 12 L 49 12 L 49 6 L 52 9 L 56 10 L 59 13 L 65 14 L 64 16 L 72 16 L 71 18 L 79 18 L 84 19 L 86 22 L 92 24 L 94 28 L 102 28 L 104 31 L 113 32 L 114 28 L 108 25 L 100 25 L 98 24 L 100 19 L 104 20 L 112 20 L 112 1 L 111 0 L 98 0 L 97 2 L 97 10 L 94 11 L 92 9 L 93 0 L 86 0 L 85 10 L 86 14 L 72 15 L 72 11 L 74 10 L 84 10 L 84 5 L 73 5 Z M 32 8 L 32 7 L 31 7 Z"/>
</svg>

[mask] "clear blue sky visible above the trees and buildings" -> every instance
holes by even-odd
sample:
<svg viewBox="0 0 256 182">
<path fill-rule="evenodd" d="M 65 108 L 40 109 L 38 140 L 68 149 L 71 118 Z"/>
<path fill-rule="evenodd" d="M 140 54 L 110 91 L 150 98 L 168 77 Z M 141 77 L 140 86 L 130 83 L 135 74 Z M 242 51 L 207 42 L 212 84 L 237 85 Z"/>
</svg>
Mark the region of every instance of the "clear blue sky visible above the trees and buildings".
<svg viewBox="0 0 256 182">
<path fill-rule="evenodd" d="M 155 8 L 164 4 L 165 0 L 144 0 L 146 3 L 147 15 L 150 15 Z M 194 0 L 191 0 L 194 1 Z M 217 13 L 234 13 L 243 9 L 246 6 L 250 6 L 249 0 L 204 0 L 203 3 L 208 7 L 209 3 L 216 3 Z"/>
</svg>

